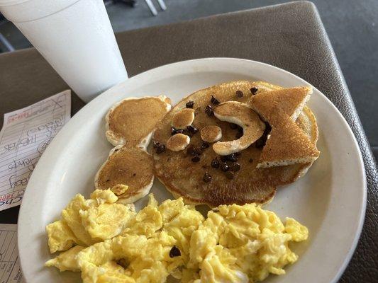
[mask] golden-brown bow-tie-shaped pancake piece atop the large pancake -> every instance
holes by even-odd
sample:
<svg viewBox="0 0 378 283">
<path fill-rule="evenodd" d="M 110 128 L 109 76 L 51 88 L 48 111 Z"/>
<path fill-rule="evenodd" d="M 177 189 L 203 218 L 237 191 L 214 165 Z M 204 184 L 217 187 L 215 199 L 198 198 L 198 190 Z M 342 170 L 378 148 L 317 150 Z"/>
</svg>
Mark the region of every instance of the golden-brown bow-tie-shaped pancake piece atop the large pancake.
<svg viewBox="0 0 378 283">
<path fill-rule="evenodd" d="M 293 121 L 296 109 L 303 108 L 311 88 L 283 88 L 258 93 L 250 99 L 252 109 L 272 126 L 270 137 L 262 150 L 259 166 L 271 167 L 315 161 L 319 156 L 316 144 Z"/>
</svg>

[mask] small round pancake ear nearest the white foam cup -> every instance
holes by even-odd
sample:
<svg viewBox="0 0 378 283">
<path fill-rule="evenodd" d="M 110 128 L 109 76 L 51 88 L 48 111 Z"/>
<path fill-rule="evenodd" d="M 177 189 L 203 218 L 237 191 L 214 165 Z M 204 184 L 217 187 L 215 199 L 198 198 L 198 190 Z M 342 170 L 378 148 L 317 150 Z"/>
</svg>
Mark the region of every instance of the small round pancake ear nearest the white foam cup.
<svg viewBox="0 0 378 283">
<path fill-rule="evenodd" d="M 126 98 L 106 114 L 106 138 L 118 146 L 139 146 L 146 149 L 157 121 L 171 109 L 166 96 Z"/>
</svg>

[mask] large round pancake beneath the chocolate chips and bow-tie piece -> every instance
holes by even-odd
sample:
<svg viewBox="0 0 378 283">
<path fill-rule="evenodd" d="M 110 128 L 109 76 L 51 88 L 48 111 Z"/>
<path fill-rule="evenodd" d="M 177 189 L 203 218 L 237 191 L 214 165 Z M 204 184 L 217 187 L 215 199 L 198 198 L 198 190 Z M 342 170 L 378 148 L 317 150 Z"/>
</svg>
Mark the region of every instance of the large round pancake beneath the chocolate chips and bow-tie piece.
<svg viewBox="0 0 378 283">
<path fill-rule="evenodd" d="M 196 91 L 196 93 L 177 103 L 165 115 L 157 125 L 153 139 L 162 144 L 167 142 L 167 139 L 171 136 L 170 125 L 172 117 L 179 110 L 185 108 L 185 104 L 190 100 L 194 101 L 196 113 L 193 122 L 194 127 L 201 129 L 206 125 L 217 125 L 222 129 L 222 141 L 235 139 L 237 129 L 231 129 L 228 122 L 222 122 L 213 116 L 209 117 L 204 110 L 206 105 L 211 104 L 211 95 L 215 96 L 221 103 L 230 100 L 245 103 L 252 96 L 250 92 L 252 87 L 257 87 L 259 91 L 279 89 L 279 86 L 272 86 L 264 82 L 233 81 Z M 244 96 L 238 98 L 235 96 L 236 91 L 243 91 Z M 317 139 L 317 134 L 314 132 L 314 128 L 317 129 L 316 122 L 309 108 L 306 108 L 306 111 L 299 115 L 297 123 L 304 132 L 308 133 L 312 140 L 315 137 Z M 190 144 L 200 147 L 201 143 L 199 133 L 191 137 Z M 161 154 L 154 152 L 155 175 L 174 196 L 182 196 L 189 203 L 209 204 L 209 206 L 214 207 L 219 204 L 269 202 L 274 197 L 277 185 L 293 182 L 299 178 L 308 166 L 311 166 L 311 164 L 295 164 L 292 166 L 257 169 L 255 167 L 260 152 L 261 149 L 257 149 L 253 145 L 243 150 L 238 157 L 240 171 L 235 173 L 235 177 L 232 180 L 226 178 L 226 175 L 219 168 L 211 168 L 211 160 L 217 157 L 211 146 L 208 149 L 204 149 L 200 156 L 201 160 L 196 163 L 191 161 L 191 156 L 186 151 L 173 152 L 166 150 Z M 209 183 L 205 183 L 203 180 L 206 172 L 212 177 Z"/>
</svg>

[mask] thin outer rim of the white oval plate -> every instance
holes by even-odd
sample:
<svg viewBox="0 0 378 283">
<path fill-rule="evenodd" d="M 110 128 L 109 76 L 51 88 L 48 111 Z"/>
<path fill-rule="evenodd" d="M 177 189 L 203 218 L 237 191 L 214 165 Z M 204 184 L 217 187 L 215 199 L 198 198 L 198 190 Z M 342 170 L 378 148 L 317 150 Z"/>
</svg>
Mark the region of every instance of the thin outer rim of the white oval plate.
<svg viewBox="0 0 378 283">
<path fill-rule="evenodd" d="M 76 120 L 79 119 L 79 114 L 84 112 L 84 110 L 86 110 L 87 108 L 90 108 L 91 105 L 94 105 L 96 103 L 97 100 L 101 100 L 102 98 L 104 98 L 105 96 L 108 95 L 109 92 L 111 92 L 114 88 L 117 88 L 118 86 L 120 85 L 124 85 L 124 84 L 132 84 L 135 80 L 138 80 L 140 76 L 146 76 L 146 74 L 148 73 L 154 73 L 154 72 L 157 72 L 157 71 L 160 71 L 160 69 L 166 69 L 166 68 L 177 68 L 177 66 L 179 67 L 182 67 L 183 64 L 202 64 L 202 63 L 206 63 L 206 62 L 225 62 L 225 61 L 229 61 L 230 64 L 237 64 L 237 62 L 244 62 L 244 63 L 250 63 L 250 64 L 256 64 L 256 65 L 261 65 L 262 67 L 265 67 L 265 68 L 273 68 L 275 69 L 276 71 L 279 71 L 279 72 L 282 72 L 284 73 L 285 75 L 287 76 L 292 76 L 294 79 L 297 79 L 299 81 L 301 81 L 302 83 L 304 84 L 307 84 L 309 86 L 312 86 L 311 83 L 308 83 L 307 81 L 305 81 L 304 79 L 301 79 L 301 77 L 299 76 L 296 76 L 295 74 L 292 74 L 291 72 L 289 71 L 286 71 L 284 69 L 281 69 L 279 67 L 275 67 L 271 64 L 267 64 L 267 63 L 264 63 L 264 62 L 258 62 L 258 61 L 255 61 L 255 60 L 250 60 L 250 59 L 241 59 L 241 58 L 231 58 L 231 57 L 206 57 L 206 58 L 199 58 L 199 59 L 190 59 L 190 60 L 184 60 L 184 61 L 180 61 L 180 62 L 173 62 L 173 63 L 170 63 L 170 64 L 164 64 L 160 67 L 155 67 L 155 68 L 152 68 L 152 69 L 148 69 L 146 71 L 143 71 L 142 73 L 140 74 L 137 74 L 135 76 L 132 76 L 130 77 L 129 79 L 126 79 L 126 81 L 122 81 L 121 83 L 118 83 L 116 84 L 115 86 L 112 86 L 111 88 L 109 88 L 108 90 L 104 91 L 103 93 L 99 94 L 99 96 L 96 96 L 96 98 L 94 98 L 93 100 L 91 100 L 89 103 L 87 103 L 86 105 L 84 105 L 84 107 L 82 109 L 80 109 L 71 119 L 69 122 L 67 122 L 67 124 L 60 130 L 60 132 L 57 133 L 57 136 L 55 136 L 55 139 L 52 140 L 51 144 L 55 144 L 56 140 L 57 140 L 57 137 L 59 137 L 59 139 L 62 139 L 63 134 L 65 131 L 62 131 L 63 129 L 67 129 L 68 127 L 72 127 L 72 126 L 69 126 L 69 125 L 74 125 L 74 122 L 76 122 Z M 353 240 L 352 240 L 352 243 L 351 243 L 351 246 L 350 246 L 350 249 L 348 251 L 348 254 L 345 256 L 344 260 L 343 260 L 343 263 L 338 267 L 338 272 L 335 273 L 334 277 L 332 279 L 330 279 L 330 283 L 335 283 L 335 282 L 338 282 L 338 279 L 340 279 L 340 277 L 343 275 L 343 272 L 345 271 L 346 267 L 348 267 L 348 264 L 352 258 L 352 255 L 355 253 L 355 249 L 357 248 L 357 243 L 360 239 L 360 236 L 361 236 L 361 233 L 362 233 L 362 227 L 363 227 L 363 224 L 365 222 L 365 214 L 366 214 L 366 207 L 367 207 L 367 177 L 366 177 L 366 171 L 365 171 L 365 162 L 364 162 L 364 159 L 362 157 L 362 152 L 361 152 L 361 149 L 360 149 L 360 146 L 357 142 L 357 139 L 355 137 L 355 134 L 353 133 L 350 125 L 348 124 L 348 122 L 345 120 L 345 117 L 341 114 L 341 112 L 338 110 L 338 108 L 332 103 L 332 101 L 330 101 L 330 99 L 325 96 L 321 91 L 319 91 L 317 88 L 315 88 L 314 86 L 312 86 L 314 89 L 316 89 L 316 91 L 318 91 L 318 93 L 323 96 L 323 98 L 325 98 L 328 102 L 328 104 L 330 105 L 331 108 L 333 108 L 333 110 L 335 110 L 335 112 L 337 112 L 337 115 L 340 116 L 341 120 L 343 121 L 343 123 L 347 126 L 346 128 L 348 129 L 348 132 L 350 132 L 351 136 L 352 136 L 352 141 L 353 141 L 353 144 L 354 146 L 357 148 L 357 153 L 358 153 L 358 156 L 359 156 L 359 161 L 361 163 L 361 169 L 362 169 L 362 184 L 363 184 L 363 190 L 362 190 L 362 204 L 360 204 L 360 210 L 358 211 L 358 214 L 360 214 L 360 217 L 358 219 L 358 225 L 357 225 L 357 229 L 355 230 L 355 235 L 353 237 Z M 48 148 L 46 149 L 46 151 L 48 151 L 49 148 L 52 148 L 52 146 L 48 146 Z M 34 171 L 37 171 L 39 172 L 39 168 L 40 166 L 38 166 L 38 164 L 42 164 L 42 163 L 45 163 L 48 159 L 47 157 L 44 157 L 44 156 L 47 156 L 47 155 L 43 155 L 40 157 L 40 160 L 38 161 L 37 163 L 37 166 L 35 166 L 35 170 Z M 46 160 L 46 161 L 45 161 Z M 42 163 L 40 161 L 43 161 Z M 34 173 L 34 172 L 33 172 Z M 34 177 L 36 174 L 32 174 L 30 176 L 30 180 L 34 180 L 34 178 L 37 178 L 37 177 Z M 30 183 L 30 180 L 28 183 Z M 29 192 L 28 190 L 28 187 L 26 187 L 26 190 L 25 190 L 25 194 L 23 195 L 23 202 L 21 203 L 21 207 L 20 207 L 20 211 L 19 211 L 19 214 L 18 214 L 18 229 L 17 229 L 17 239 L 18 241 L 20 241 L 21 239 L 21 230 L 23 230 L 21 227 L 22 225 L 20 225 L 22 223 L 22 218 L 23 218 L 23 215 L 24 214 L 27 214 L 28 212 L 26 212 L 26 209 L 28 208 L 28 204 L 25 204 L 25 199 L 28 197 L 28 195 L 33 195 L 31 190 Z M 25 205 L 23 205 L 25 204 Z M 23 259 L 23 257 L 21 257 L 21 253 L 20 251 L 18 251 L 19 253 L 19 258 L 20 258 L 20 267 L 21 267 L 21 270 L 23 271 L 23 265 L 22 265 L 22 262 L 25 260 Z M 26 276 L 25 276 L 25 272 L 23 272 L 23 275 L 24 275 L 24 279 L 26 281 Z M 26 281 L 27 282 L 27 281 Z"/>
</svg>

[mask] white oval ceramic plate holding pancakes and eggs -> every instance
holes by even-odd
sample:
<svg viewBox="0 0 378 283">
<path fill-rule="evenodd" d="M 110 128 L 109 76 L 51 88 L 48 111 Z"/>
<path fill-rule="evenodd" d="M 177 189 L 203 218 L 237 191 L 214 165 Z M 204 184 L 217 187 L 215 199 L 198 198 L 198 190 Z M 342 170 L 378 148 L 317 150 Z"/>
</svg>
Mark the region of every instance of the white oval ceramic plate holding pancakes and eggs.
<svg viewBox="0 0 378 283">
<path fill-rule="evenodd" d="M 18 248 L 23 275 L 31 282 L 80 282 L 73 272 L 60 273 L 43 264 L 51 258 L 45 226 L 79 193 L 93 190 L 94 175 L 111 145 L 105 137 L 106 112 L 128 96 L 164 93 L 176 103 L 200 88 L 233 80 L 269 81 L 280 86 L 308 83 L 276 67 L 244 59 L 197 59 L 146 71 L 114 86 L 80 110 L 57 134 L 38 162 L 23 197 L 18 218 Z M 299 261 L 287 275 L 266 282 L 336 282 L 352 256 L 365 216 L 366 183 L 360 149 L 343 116 L 318 90 L 308 103 L 319 127 L 318 158 L 307 175 L 280 187 L 267 206 L 279 216 L 305 224 L 310 237 L 296 244 Z M 172 198 L 155 181 L 158 200 Z M 145 200 L 138 202 L 142 206 Z"/>
</svg>

